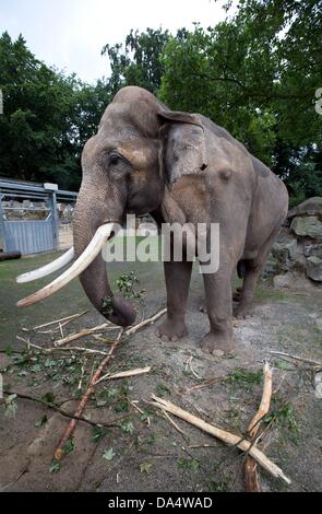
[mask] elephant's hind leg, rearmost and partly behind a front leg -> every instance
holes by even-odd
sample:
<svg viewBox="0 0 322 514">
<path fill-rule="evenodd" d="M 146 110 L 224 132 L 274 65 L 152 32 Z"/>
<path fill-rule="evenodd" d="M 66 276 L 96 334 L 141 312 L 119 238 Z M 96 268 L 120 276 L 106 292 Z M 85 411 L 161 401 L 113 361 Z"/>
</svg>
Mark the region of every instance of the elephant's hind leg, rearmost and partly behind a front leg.
<svg viewBox="0 0 322 514">
<path fill-rule="evenodd" d="M 237 318 L 245 318 L 253 314 L 254 293 L 258 279 L 278 231 L 279 226 L 274 230 L 265 241 L 254 259 L 243 260 L 245 278 L 239 293 L 239 304 L 235 311 L 235 316 Z"/>
</svg>

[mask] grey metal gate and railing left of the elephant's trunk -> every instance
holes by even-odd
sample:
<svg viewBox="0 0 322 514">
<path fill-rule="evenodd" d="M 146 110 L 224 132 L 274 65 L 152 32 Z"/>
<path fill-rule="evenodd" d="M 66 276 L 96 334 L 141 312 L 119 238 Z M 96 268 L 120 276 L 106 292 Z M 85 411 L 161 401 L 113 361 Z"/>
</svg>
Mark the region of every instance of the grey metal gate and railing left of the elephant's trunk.
<svg viewBox="0 0 322 514">
<path fill-rule="evenodd" d="M 76 197 L 76 192 L 58 189 L 56 184 L 0 178 L 0 250 L 27 255 L 71 246 L 72 241 L 63 241 L 67 231 L 60 230 L 58 206 L 74 205 Z M 26 214 L 34 219 L 22 220 Z M 71 219 L 67 225 L 67 238 L 71 240 Z"/>
</svg>

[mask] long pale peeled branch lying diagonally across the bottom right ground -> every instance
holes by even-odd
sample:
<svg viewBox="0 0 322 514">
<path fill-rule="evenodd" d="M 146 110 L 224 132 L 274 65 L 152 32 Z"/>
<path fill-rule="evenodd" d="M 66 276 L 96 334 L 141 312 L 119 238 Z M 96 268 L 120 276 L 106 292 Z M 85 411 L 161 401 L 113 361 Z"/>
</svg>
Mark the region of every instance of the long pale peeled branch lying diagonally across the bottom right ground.
<svg viewBox="0 0 322 514">
<path fill-rule="evenodd" d="M 238 446 L 243 452 L 249 452 L 249 454 L 275 478 L 283 478 L 287 483 L 290 483 L 289 478 L 287 478 L 282 469 L 276 466 L 276 464 L 272 463 L 260 449 L 254 447 L 249 441 L 239 437 L 238 435 L 231 434 L 230 432 L 226 432 L 225 430 L 218 429 L 213 424 L 206 423 L 201 418 L 187 412 L 186 410 L 177 407 L 176 405 L 171 404 L 170 401 L 165 400 L 164 398 L 158 398 L 157 396 L 152 395 L 152 398 L 155 407 L 158 407 L 162 410 L 166 410 L 178 418 L 188 421 L 188 423 L 198 427 L 200 430 L 207 432 L 208 434 L 213 435 L 214 437 L 219 439 L 228 446 Z"/>
</svg>

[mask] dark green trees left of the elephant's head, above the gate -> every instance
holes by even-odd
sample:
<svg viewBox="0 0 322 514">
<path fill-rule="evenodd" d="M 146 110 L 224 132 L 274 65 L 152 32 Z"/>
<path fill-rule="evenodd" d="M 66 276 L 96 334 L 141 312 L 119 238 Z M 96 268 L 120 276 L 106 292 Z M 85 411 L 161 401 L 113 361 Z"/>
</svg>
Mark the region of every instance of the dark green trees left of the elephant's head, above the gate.
<svg viewBox="0 0 322 514">
<path fill-rule="evenodd" d="M 77 189 L 81 151 L 110 100 L 107 84 L 83 84 L 48 68 L 22 36 L 0 38 L 0 175 Z"/>
</svg>

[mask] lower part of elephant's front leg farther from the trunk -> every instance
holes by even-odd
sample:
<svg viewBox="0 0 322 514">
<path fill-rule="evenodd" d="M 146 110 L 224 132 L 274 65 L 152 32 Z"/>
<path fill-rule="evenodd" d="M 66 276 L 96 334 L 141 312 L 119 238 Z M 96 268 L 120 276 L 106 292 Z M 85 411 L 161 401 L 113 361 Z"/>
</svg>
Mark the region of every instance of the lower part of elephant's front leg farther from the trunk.
<svg viewBox="0 0 322 514">
<path fill-rule="evenodd" d="M 202 339 L 201 348 L 208 353 L 231 353 L 234 343 L 230 269 L 220 269 L 216 273 L 205 273 L 203 280 L 210 331 Z"/>
</svg>

